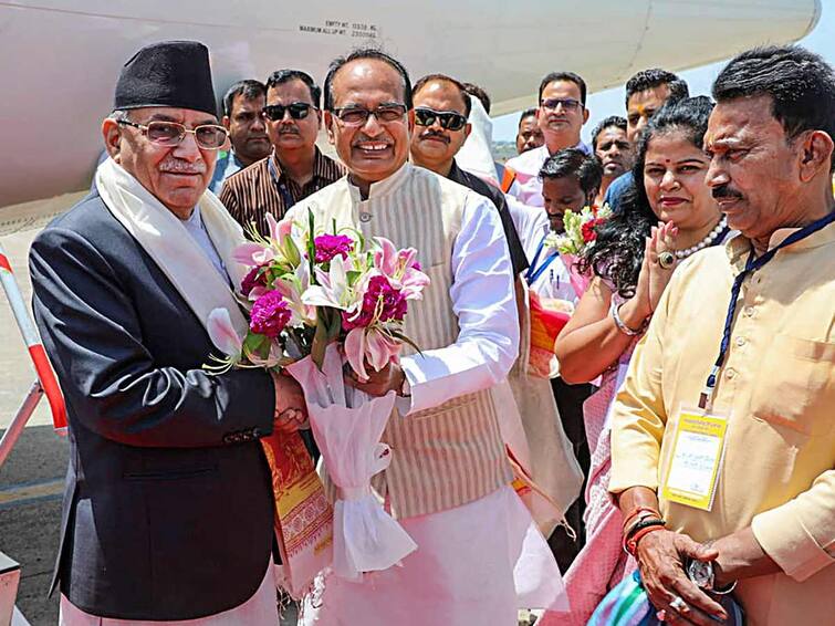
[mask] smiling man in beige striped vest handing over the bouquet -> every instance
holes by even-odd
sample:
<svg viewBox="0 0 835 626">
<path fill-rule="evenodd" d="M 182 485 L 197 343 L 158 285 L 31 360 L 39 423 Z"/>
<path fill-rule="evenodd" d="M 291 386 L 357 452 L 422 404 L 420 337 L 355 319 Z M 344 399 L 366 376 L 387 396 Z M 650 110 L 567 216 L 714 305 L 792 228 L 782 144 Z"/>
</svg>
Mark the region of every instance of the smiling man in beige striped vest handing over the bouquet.
<svg viewBox="0 0 835 626">
<path fill-rule="evenodd" d="M 353 52 L 331 65 L 324 91 L 325 126 L 348 175 L 288 219 L 312 210 L 319 223 L 353 225 L 366 237 L 414 247 L 431 284 L 406 323 L 421 353 L 366 382 L 349 380 L 374 396 L 399 396 L 383 436 L 393 460 L 374 489 L 418 549 L 401 566 L 359 582 L 326 574 L 301 623 L 515 625 L 518 606 L 552 604 L 562 587 L 547 545 L 509 487 L 489 392 L 519 349 L 498 212 L 483 196 L 406 163 L 414 111 L 397 61 Z M 521 554 L 533 562 L 518 563 Z"/>
</svg>

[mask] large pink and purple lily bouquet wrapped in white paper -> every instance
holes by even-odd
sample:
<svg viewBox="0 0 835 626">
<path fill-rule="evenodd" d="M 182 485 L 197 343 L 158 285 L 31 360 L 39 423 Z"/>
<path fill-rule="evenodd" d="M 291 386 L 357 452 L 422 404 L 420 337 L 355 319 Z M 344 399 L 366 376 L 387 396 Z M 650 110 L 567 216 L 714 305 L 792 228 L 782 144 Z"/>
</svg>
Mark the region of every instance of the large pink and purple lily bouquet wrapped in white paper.
<svg viewBox="0 0 835 626">
<path fill-rule="evenodd" d="M 236 251 L 250 268 L 240 298 L 250 311 L 246 336 L 225 310 L 210 315 L 215 344 L 227 355 L 216 368 L 284 368 L 302 386 L 311 427 L 328 476 L 334 504 L 334 573 L 355 578 L 385 570 L 417 546 L 372 493 L 372 477 L 390 462 L 379 439 L 395 403 L 390 392 L 370 398 L 343 383 L 349 367 L 361 380 L 399 357 L 408 302 L 422 296 L 428 277 L 414 249 L 355 229 L 330 231 L 304 220 L 268 216 L 269 234 Z M 216 338 L 217 337 L 217 338 Z M 415 346 L 417 347 L 417 346 Z"/>
</svg>

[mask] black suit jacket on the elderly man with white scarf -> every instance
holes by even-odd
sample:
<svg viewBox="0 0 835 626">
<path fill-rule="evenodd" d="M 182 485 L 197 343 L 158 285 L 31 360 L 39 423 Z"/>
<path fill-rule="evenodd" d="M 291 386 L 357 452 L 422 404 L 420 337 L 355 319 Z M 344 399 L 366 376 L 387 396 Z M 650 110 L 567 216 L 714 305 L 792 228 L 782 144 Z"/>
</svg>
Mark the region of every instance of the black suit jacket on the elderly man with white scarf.
<svg viewBox="0 0 835 626">
<path fill-rule="evenodd" d="M 201 371 L 202 324 L 95 189 L 38 236 L 30 271 L 70 424 L 51 591 L 124 619 L 246 602 L 272 547 L 269 375 Z"/>
</svg>

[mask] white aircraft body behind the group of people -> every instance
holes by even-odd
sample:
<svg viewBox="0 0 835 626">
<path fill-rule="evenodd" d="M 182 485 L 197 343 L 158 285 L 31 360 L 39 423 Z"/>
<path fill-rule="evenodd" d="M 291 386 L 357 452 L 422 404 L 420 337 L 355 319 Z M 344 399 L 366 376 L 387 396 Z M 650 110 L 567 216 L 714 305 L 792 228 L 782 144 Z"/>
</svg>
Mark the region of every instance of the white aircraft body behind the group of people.
<svg viewBox="0 0 835 626">
<path fill-rule="evenodd" d="M 280 67 L 321 81 L 333 58 L 377 45 L 414 77 L 482 85 L 495 115 L 534 104 L 553 70 L 602 90 L 795 41 L 820 14 L 820 0 L 0 0 L 0 233 L 42 226 L 88 188 L 119 69 L 154 41 L 205 42 L 219 96 Z"/>
</svg>

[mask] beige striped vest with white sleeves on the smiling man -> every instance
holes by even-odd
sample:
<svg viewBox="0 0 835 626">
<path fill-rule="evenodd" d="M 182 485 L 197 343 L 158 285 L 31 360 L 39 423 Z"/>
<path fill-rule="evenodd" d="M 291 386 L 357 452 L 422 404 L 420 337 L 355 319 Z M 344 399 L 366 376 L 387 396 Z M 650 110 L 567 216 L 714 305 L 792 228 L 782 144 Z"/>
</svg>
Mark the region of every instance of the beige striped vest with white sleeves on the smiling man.
<svg viewBox="0 0 835 626">
<path fill-rule="evenodd" d="M 367 199 L 342 178 L 295 205 L 286 219 L 309 209 L 319 225 L 358 226 L 365 237 L 415 248 L 431 279 L 406 317 L 406 334 L 421 348 L 401 359 L 411 400 L 386 427 L 392 463 L 373 483 L 393 515 L 437 513 L 508 484 L 510 465 L 489 388 L 516 357 L 519 322 L 507 243 L 494 229 L 490 200 L 406 164 L 372 185 Z M 459 237 L 462 228 L 466 237 Z"/>
</svg>

